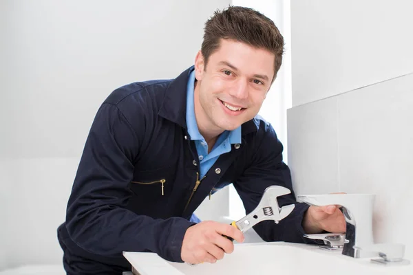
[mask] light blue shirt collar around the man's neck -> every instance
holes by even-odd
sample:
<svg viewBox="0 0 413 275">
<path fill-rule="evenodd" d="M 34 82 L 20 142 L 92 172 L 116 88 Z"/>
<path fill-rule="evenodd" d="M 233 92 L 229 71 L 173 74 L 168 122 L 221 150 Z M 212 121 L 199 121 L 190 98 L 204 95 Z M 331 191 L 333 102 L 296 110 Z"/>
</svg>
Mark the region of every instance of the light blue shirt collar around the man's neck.
<svg viewBox="0 0 413 275">
<path fill-rule="evenodd" d="M 189 74 L 187 84 L 187 126 L 191 140 L 204 140 L 196 124 L 195 107 L 193 103 L 193 90 L 195 87 L 195 70 Z M 241 126 L 229 132 L 229 142 L 231 144 L 241 143 Z"/>
</svg>

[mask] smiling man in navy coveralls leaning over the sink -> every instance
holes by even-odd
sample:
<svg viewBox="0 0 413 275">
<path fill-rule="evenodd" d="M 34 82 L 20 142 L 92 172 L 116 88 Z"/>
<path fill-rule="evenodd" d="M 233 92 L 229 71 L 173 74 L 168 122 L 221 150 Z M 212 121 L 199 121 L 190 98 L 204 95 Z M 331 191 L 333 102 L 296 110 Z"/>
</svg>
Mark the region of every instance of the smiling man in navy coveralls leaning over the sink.
<svg viewBox="0 0 413 275">
<path fill-rule="evenodd" d="M 282 144 L 257 117 L 282 63 L 273 21 L 248 8 L 215 12 L 195 65 L 173 80 L 120 87 L 96 114 L 58 230 L 67 274 L 120 274 L 123 251 L 215 263 L 244 241 L 240 230 L 191 216 L 212 190 L 233 183 L 246 212 L 271 185 L 292 189 Z M 279 198 L 295 210 L 255 230 L 265 241 L 344 232 L 335 206 Z"/>
</svg>

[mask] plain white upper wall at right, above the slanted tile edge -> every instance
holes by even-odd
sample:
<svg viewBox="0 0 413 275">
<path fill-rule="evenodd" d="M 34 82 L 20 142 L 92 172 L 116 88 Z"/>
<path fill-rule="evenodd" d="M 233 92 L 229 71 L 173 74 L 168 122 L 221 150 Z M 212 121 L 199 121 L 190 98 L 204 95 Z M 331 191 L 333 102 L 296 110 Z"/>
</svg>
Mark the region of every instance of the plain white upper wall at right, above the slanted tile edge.
<svg viewBox="0 0 413 275">
<path fill-rule="evenodd" d="M 412 72 L 413 2 L 291 1 L 293 106 Z"/>
</svg>

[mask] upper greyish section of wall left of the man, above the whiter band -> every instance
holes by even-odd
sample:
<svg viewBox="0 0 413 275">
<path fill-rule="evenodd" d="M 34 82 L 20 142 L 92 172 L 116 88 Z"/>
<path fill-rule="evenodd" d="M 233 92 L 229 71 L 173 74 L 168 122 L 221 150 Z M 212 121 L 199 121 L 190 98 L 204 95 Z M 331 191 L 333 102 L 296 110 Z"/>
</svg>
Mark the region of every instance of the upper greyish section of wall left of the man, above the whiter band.
<svg viewBox="0 0 413 275">
<path fill-rule="evenodd" d="M 78 157 L 105 97 L 192 65 L 204 21 L 229 1 L 2 3 L 1 109 L 13 120 L 0 153 L 18 158 Z"/>
</svg>

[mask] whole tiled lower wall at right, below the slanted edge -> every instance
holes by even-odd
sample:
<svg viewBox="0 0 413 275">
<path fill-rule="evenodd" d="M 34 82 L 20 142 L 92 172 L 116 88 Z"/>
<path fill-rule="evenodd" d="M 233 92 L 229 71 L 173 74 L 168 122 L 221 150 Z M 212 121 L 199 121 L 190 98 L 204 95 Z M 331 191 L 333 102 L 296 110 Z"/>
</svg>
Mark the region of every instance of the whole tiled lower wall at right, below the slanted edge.
<svg viewBox="0 0 413 275">
<path fill-rule="evenodd" d="M 297 194 L 373 193 L 377 243 L 413 259 L 413 74 L 288 110 Z"/>
</svg>

